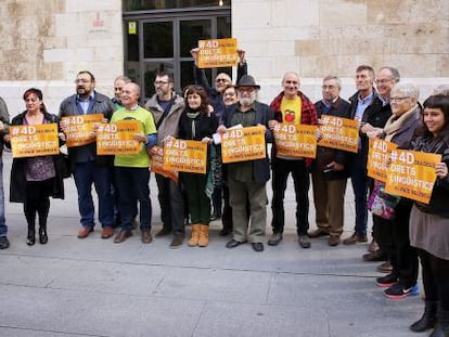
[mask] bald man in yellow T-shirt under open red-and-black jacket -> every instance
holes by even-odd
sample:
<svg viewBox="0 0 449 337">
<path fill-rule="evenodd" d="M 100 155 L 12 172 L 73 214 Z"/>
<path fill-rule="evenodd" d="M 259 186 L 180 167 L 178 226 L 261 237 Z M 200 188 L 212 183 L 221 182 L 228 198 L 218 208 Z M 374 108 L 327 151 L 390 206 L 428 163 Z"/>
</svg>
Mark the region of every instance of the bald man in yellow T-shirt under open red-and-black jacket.
<svg viewBox="0 0 449 337">
<path fill-rule="evenodd" d="M 287 72 L 282 79 L 284 90 L 271 102 L 270 107 L 274 112 L 275 120 L 270 121 L 270 130 L 278 122 L 317 125 L 317 111 L 313 103 L 299 91 L 299 75 Z M 288 174 L 292 172 L 296 195 L 296 232 L 298 243 L 303 248 L 310 247 L 307 235 L 309 229 L 309 166 L 310 159 L 293 158 L 278 155 L 275 146 L 272 147 L 271 168 L 273 170 L 272 189 L 273 199 L 271 209 L 273 212 L 271 225 L 273 235 L 268 241 L 270 246 L 275 246 L 282 241 L 284 231 L 284 195 Z"/>
</svg>

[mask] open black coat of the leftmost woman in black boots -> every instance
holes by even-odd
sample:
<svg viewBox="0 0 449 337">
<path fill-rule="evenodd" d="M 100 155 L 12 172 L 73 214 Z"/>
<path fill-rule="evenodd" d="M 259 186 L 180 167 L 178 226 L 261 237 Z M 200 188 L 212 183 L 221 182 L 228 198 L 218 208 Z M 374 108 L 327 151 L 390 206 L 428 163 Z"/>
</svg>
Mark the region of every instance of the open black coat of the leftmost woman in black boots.
<svg viewBox="0 0 449 337">
<path fill-rule="evenodd" d="M 15 116 L 11 125 L 24 125 L 26 112 Z M 48 122 L 55 122 L 59 125 L 59 118 L 55 115 L 44 113 L 44 119 Z M 68 177 L 68 170 L 63 154 L 52 156 L 56 177 L 53 180 L 53 190 L 50 196 L 54 198 L 64 198 L 64 178 Z M 26 160 L 27 158 L 14 158 L 11 168 L 11 184 L 10 184 L 10 202 L 24 203 L 26 197 Z"/>
</svg>

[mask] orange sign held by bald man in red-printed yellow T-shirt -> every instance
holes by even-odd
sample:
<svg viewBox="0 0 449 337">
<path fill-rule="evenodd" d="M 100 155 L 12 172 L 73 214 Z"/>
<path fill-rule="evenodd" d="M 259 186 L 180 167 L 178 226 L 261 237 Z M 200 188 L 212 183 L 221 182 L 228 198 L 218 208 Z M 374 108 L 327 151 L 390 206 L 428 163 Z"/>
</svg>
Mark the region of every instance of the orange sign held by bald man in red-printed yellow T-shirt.
<svg viewBox="0 0 449 337">
<path fill-rule="evenodd" d="M 277 124 L 273 129 L 278 155 L 298 158 L 317 157 L 316 126 Z"/>
</svg>

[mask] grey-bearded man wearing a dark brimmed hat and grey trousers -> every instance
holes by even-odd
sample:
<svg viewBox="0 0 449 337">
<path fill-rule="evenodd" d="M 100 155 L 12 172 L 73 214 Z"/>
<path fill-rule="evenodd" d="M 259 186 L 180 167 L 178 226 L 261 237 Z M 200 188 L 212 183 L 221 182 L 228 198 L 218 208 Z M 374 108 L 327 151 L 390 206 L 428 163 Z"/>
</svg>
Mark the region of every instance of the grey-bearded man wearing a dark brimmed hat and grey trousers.
<svg viewBox="0 0 449 337">
<path fill-rule="evenodd" d="M 236 86 L 239 102 L 224 111 L 218 133 L 224 133 L 228 128 L 236 125 L 265 126 L 266 141 L 271 142 L 268 122 L 274 115 L 267 104 L 256 101 L 259 89 L 260 86 L 256 85 L 253 76 L 245 75 L 241 78 Z M 226 167 L 233 221 L 233 238 L 226 247 L 234 248 L 249 241 L 255 251 L 262 251 L 268 204 L 266 183 L 270 179 L 268 155 L 262 159 L 227 164 Z M 245 207 L 247 198 L 251 204 L 249 220 Z"/>
</svg>

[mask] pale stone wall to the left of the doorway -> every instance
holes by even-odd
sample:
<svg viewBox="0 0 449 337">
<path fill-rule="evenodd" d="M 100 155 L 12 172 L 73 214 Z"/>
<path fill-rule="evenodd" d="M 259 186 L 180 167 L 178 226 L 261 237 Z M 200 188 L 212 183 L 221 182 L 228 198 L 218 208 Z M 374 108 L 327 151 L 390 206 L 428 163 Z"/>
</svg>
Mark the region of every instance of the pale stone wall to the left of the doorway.
<svg viewBox="0 0 449 337">
<path fill-rule="evenodd" d="M 2 0 L 0 23 L 0 95 L 12 116 L 24 109 L 21 96 L 29 87 L 42 89 L 49 111 L 57 113 L 79 70 L 92 72 L 108 95 L 123 74 L 120 0 Z"/>
</svg>

